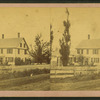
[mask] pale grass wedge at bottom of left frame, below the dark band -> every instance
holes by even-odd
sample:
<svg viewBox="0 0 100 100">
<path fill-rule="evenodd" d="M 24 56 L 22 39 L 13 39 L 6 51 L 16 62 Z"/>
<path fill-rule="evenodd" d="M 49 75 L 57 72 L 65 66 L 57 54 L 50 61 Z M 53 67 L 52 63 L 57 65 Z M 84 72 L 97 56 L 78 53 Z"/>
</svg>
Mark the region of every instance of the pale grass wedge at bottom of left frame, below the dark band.
<svg viewBox="0 0 100 100">
<path fill-rule="evenodd" d="M 3 89 L 4 90 L 4 89 Z M 24 84 L 21 86 L 13 86 L 6 88 L 6 90 L 18 90 L 18 91 L 49 91 L 50 82 L 49 80 L 42 80 L 37 83 Z"/>
</svg>

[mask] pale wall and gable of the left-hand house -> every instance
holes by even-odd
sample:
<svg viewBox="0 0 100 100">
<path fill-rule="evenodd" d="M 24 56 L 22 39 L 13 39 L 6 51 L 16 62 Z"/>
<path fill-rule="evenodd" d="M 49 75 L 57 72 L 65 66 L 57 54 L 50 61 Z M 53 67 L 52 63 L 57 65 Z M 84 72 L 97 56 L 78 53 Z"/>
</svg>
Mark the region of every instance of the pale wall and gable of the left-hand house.
<svg viewBox="0 0 100 100">
<path fill-rule="evenodd" d="M 25 58 L 29 58 L 29 54 L 28 54 L 28 50 L 27 50 L 28 47 L 27 47 L 25 41 L 22 40 L 21 43 L 22 43 L 22 47 L 20 47 L 20 44 L 19 44 L 17 48 L 12 48 L 13 52 L 11 54 L 7 53 L 7 48 L 3 48 L 3 53 L 1 53 L 1 49 L 0 49 L 0 58 L 3 58 L 3 63 L 5 63 L 6 61 L 8 62 L 8 59 L 13 58 L 13 60 L 9 61 L 8 64 L 14 65 L 16 57 L 23 59 L 23 61 L 25 61 Z M 25 46 L 24 46 L 24 44 L 25 44 Z M 18 54 L 18 50 L 20 51 L 19 54 Z M 27 50 L 26 51 L 27 54 L 25 54 L 25 50 Z"/>
</svg>

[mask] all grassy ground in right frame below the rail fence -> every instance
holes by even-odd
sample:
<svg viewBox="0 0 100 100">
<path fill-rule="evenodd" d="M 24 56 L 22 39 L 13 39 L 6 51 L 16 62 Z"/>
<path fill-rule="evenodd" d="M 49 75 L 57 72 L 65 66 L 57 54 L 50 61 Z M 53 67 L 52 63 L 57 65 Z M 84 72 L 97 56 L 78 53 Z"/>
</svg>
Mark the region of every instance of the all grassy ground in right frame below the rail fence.
<svg viewBox="0 0 100 100">
<path fill-rule="evenodd" d="M 50 79 L 51 91 L 100 90 L 100 72 L 70 78 Z"/>
</svg>

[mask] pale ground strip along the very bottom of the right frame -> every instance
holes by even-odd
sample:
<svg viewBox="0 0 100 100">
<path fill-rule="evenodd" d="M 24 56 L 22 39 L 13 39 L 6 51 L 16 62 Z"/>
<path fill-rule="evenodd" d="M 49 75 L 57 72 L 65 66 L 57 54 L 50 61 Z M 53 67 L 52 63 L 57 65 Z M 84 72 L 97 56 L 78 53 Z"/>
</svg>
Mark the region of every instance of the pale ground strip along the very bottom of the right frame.
<svg viewBox="0 0 100 100">
<path fill-rule="evenodd" d="M 67 83 L 51 83 L 51 91 L 89 91 L 99 90 L 100 91 L 100 79 L 79 81 L 79 82 L 67 82 Z"/>
</svg>

